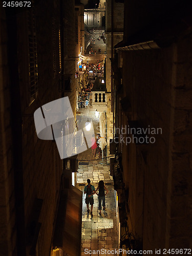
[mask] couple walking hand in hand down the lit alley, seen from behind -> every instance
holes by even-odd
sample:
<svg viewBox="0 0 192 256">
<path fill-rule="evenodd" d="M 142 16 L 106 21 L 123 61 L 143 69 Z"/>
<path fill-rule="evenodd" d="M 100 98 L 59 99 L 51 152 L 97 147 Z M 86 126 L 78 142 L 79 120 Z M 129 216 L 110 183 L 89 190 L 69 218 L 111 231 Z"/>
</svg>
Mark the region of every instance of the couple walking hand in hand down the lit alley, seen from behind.
<svg viewBox="0 0 192 256">
<path fill-rule="evenodd" d="M 101 202 L 102 202 L 102 207 L 103 210 L 105 210 L 105 196 L 108 194 L 108 189 L 104 185 L 104 181 L 100 180 L 97 189 L 95 190 L 95 187 L 91 185 L 90 179 L 87 180 L 88 185 L 84 187 L 84 194 L 86 194 L 86 204 L 87 204 L 87 211 L 88 213 L 90 212 L 89 210 L 89 204 L 91 205 L 91 216 L 93 216 L 93 195 L 97 194 L 98 196 L 98 201 L 99 201 L 99 215 L 101 215 Z M 106 192 L 105 192 L 106 191 Z"/>
</svg>

